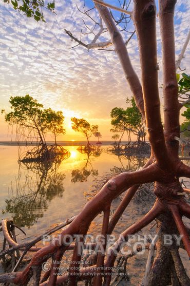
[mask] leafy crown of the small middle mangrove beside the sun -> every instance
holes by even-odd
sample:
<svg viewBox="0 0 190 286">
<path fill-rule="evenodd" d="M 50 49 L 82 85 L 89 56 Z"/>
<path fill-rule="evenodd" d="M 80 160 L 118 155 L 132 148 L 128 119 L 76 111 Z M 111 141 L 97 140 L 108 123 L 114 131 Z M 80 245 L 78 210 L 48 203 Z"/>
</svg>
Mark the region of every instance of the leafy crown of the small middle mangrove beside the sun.
<svg viewBox="0 0 190 286">
<path fill-rule="evenodd" d="M 81 132 L 86 136 L 87 142 L 89 144 L 89 138 L 92 134 L 98 132 L 98 125 L 90 125 L 84 118 L 71 118 L 72 129 L 77 132 Z"/>
</svg>

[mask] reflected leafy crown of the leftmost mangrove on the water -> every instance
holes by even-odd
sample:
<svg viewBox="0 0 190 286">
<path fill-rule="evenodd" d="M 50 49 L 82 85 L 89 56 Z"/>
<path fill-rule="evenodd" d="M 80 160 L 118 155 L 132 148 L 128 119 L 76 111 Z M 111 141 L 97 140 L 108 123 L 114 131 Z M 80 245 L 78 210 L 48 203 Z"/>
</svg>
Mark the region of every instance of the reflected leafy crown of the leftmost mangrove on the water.
<svg viewBox="0 0 190 286">
<path fill-rule="evenodd" d="M 5 201 L 6 207 L 2 214 L 12 214 L 14 223 L 18 226 L 30 227 L 44 216 L 44 211 L 48 208 L 48 202 L 55 197 L 61 198 L 64 193 L 63 181 L 65 174 L 55 173 L 51 175 L 48 169 L 35 174 L 34 181 L 32 177 L 26 177 L 23 184 L 20 176 L 17 180 L 16 196 Z"/>
</svg>

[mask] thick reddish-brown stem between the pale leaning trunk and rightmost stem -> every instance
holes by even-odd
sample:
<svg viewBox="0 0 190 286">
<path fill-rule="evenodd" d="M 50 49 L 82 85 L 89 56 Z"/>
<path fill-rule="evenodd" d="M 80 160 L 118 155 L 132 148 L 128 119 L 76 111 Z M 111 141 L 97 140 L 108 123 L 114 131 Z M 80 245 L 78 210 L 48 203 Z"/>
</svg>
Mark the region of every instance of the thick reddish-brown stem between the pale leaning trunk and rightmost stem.
<svg viewBox="0 0 190 286">
<path fill-rule="evenodd" d="M 165 145 L 158 89 L 156 6 L 151 0 L 134 1 L 134 23 L 138 35 L 146 126 L 155 158 L 162 168 L 170 159 Z M 148 36 L 147 36 L 148 35 Z M 167 163 L 166 163 L 167 162 Z"/>
</svg>

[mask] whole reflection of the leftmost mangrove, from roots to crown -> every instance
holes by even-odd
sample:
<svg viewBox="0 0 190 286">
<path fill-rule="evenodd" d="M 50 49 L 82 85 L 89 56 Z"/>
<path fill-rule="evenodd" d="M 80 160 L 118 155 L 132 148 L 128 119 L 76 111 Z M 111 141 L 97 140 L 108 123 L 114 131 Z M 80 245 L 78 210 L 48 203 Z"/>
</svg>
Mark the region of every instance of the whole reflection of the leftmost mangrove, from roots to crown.
<svg viewBox="0 0 190 286">
<path fill-rule="evenodd" d="M 6 200 L 3 214 L 11 213 L 18 226 L 30 227 L 44 216 L 48 202 L 62 197 L 64 173 L 58 173 L 61 161 L 19 163 L 18 177 L 12 197 Z M 25 177 L 23 181 L 23 176 Z"/>
</svg>

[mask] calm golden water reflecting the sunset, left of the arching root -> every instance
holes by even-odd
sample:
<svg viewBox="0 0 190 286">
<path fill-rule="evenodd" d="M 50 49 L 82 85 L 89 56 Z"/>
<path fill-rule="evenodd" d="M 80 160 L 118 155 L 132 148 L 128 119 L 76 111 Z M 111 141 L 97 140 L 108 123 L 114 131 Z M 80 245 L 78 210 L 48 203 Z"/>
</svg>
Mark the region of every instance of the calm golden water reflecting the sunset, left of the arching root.
<svg viewBox="0 0 190 286">
<path fill-rule="evenodd" d="M 85 193 L 100 176 L 145 161 L 108 154 L 107 147 L 89 155 L 81 154 L 78 146 L 67 146 L 71 155 L 60 164 L 27 167 L 18 163 L 16 146 L 0 146 L 1 218 L 13 218 L 29 237 L 41 234 L 53 223 L 77 215 L 87 202 Z"/>
</svg>

